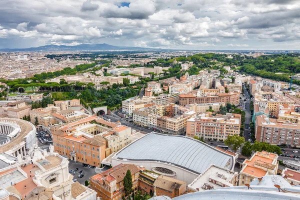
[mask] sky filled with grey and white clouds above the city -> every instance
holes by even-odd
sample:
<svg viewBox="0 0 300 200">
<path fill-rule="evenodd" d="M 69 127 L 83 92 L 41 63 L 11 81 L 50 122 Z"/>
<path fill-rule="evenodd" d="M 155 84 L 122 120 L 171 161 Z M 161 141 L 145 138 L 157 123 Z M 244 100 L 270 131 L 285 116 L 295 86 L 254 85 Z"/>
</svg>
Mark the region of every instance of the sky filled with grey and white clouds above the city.
<svg viewBox="0 0 300 200">
<path fill-rule="evenodd" d="M 300 49 L 300 0 L 0 0 L 0 48 Z"/>
</svg>

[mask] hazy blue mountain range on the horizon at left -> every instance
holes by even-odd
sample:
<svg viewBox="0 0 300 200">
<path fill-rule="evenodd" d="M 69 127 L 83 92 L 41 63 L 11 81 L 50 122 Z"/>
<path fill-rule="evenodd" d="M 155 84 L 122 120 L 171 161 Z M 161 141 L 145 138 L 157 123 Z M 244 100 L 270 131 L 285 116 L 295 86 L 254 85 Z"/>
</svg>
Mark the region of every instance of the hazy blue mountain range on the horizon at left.
<svg viewBox="0 0 300 200">
<path fill-rule="evenodd" d="M 2 48 L 0 51 L 96 51 L 96 50 L 163 50 L 161 48 L 143 48 L 134 46 L 113 46 L 107 43 L 102 44 L 79 44 L 67 45 L 44 45 L 30 48 Z M 165 49 L 164 49 L 165 50 Z"/>
</svg>

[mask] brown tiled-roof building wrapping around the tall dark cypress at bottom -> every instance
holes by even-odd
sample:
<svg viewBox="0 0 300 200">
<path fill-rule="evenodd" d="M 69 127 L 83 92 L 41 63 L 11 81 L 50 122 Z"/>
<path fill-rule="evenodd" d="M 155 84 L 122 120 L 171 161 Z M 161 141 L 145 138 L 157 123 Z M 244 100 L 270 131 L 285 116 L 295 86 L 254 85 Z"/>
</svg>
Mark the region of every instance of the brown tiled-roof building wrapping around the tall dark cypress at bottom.
<svg viewBox="0 0 300 200">
<path fill-rule="evenodd" d="M 132 178 L 132 190 L 137 193 L 140 167 L 134 164 L 118 164 L 102 173 L 89 178 L 90 188 L 97 192 L 100 199 L 116 200 L 125 196 L 123 179 L 127 170 Z"/>
</svg>

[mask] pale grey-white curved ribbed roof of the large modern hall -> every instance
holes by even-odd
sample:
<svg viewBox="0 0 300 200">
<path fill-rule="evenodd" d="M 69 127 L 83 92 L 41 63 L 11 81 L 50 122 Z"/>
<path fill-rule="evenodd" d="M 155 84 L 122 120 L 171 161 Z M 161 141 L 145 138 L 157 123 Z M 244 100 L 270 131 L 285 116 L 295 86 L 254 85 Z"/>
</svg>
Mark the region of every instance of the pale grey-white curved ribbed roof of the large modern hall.
<svg viewBox="0 0 300 200">
<path fill-rule="evenodd" d="M 166 162 L 198 174 L 211 164 L 233 168 L 232 155 L 190 137 L 156 132 L 130 143 L 117 152 L 114 158 Z"/>
</svg>

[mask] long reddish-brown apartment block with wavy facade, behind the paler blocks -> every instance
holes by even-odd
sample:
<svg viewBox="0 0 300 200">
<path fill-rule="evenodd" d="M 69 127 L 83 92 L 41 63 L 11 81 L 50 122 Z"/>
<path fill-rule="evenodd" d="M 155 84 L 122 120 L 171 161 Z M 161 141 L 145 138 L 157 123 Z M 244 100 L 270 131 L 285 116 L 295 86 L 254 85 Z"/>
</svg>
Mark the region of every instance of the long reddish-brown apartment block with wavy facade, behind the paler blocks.
<svg viewBox="0 0 300 200">
<path fill-rule="evenodd" d="M 240 92 L 234 91 L 232 93 L 216 93 L 211 96 L 196 96 L 193 94 L 180 94 L 179 105 L 186 105 L 191 103 L 216 103 L 224 102 L 239 105 Z"/>
</svg>

